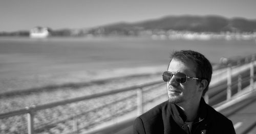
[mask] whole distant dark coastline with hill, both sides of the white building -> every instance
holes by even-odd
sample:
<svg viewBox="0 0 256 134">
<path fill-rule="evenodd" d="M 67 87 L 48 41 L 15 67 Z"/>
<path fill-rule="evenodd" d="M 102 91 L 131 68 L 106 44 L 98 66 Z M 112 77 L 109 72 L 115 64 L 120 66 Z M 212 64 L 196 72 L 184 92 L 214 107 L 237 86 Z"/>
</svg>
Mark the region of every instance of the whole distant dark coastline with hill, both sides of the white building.
<svg viewBox="0 0 256 134">
<path fill-rule="evenodd" d="M 49 28 L 50 29 L 50 28 Z M 98 26 L 91 29 L 50 29 L 51 36 L 84 36 L 84 35 L 133 35 L 137 36 L 145 31 L 189 31 L 189 32 L 256 32 L 256 19 L 225 18 L 222 16 L 166 16 L 134 23 L 119 22 Z M 29 36 L 29 31 L 0 32 L 0 36 Z"/>
</svg>

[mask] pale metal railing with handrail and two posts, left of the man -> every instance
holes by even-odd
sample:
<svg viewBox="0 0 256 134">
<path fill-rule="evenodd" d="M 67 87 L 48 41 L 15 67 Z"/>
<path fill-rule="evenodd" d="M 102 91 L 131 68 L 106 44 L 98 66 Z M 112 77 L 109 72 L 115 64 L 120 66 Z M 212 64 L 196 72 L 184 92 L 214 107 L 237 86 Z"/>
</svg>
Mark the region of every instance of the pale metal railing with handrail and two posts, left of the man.
<svg viewBox="0 0 256 134">
<path fill-rule="evenodd" d="M 52 103 L 48 103 L 48 104 L 27 106 L 25 109 L 20 109 L 17 111 L 0 114 L 0 119 L 27 114 L 28 133 L 32 134 L 32 133 L 34 133 L 34 115 L 39 110 L 49 109 L 49 108 L 53 108 L 53 107 L 59 106 L 59 105 L 65 105 L 65 104 L 74 103 L 74 102 L 78 102 L 78 101 L 82 101 L 82 100 L 94 99 L 94 98 L 101 97 L 101 96 L 113 95 L 113 94 L 117 94 L 120 92 L 127 92 L 127 91 L 131 91 L 131 90 L 137 90 L 137 113 L 138 113 L 138 115 L 140 115 L 143 113 L 143 88 L 157 85 L 160 83 L 163 83 L 163 81 L 154 81 L 154 82 L 145 83 L 145 84 L 138 84 L 138 85 L 131 86 L 131 87 L 126 87 L 126 88 L 121 88 L 121 89 L 117 89 L 117 90 L 77 97 L 77 98 L 73 98 L 73 99 L 56 101 L 56 102 L 52 102 Z"/>
</svg>

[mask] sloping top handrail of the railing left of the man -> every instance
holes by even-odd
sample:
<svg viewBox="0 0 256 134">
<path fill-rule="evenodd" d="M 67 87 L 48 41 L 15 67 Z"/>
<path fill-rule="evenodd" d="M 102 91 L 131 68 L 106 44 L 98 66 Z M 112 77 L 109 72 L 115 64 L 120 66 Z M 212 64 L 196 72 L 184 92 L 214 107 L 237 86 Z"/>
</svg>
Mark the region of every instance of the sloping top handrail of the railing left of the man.
<svg viewBox="0 0 256 134">
<path fill-rule="evenodd" d="M 72 98 L 72 99 L 55 101 L 55 102 L 51 102 L 51 103 L 47 103 L 47 104 L 27 106 L 24 109 L 11 111 L 11 112 L 7 112 L 7 113 L 2 113 L 2 114 L 0 114 L 0 119 L 8 118 L 8 117 L 16 116 L 16 115 L 27 114 L 27 113 L 30 113 L 31 111 L 35 112 L 38 110 L 49 109 L 49 108 L 53 108 L 55 106 L 65 105 L 65 104 L 78 102 L 78 101 L 82 101 L 82 100 L 88 100 L 88 99 L 93 99 L 93 98 L 97 98 L 97 97 L 101 97 L 101 96 L 117 94 L 120 92 L 136 90 L 136 89 L 140 89 L 143 87 L 148 87 L 148 86 L 152 86 L 152 85 L 160 84 L 160 83 L 163 83 L 163 81 L 158 80 L 158 81 L 154 81 L 154 82 L 150 82 L 150 83 L 137 84 L 137 85 L 131 86 L 131 87 L 120 88 L 117 90 L 111 90 L 111 91 L 106 91 L 106 92 L 102 92 L 102 93 L 96 93 L 96 94 L 76 97 L 76 98 Z"/>
</svg>

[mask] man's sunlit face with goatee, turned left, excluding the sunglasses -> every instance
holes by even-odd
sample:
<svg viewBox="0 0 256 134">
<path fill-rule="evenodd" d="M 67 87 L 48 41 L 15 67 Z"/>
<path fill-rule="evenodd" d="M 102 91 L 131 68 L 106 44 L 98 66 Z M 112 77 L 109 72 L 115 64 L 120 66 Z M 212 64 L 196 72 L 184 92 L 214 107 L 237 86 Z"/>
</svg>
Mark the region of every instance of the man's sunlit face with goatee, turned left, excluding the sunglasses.
<svg viewBox="0 0 256 134">
<path fill-rule="evenodd" d="M 187 76 L 196 77 L 195 65 L 193 62 L 181 62 L 173 59 L 169 63 L 168 71 L 183 72 Z M 196 79 L 187 78 L 185 83 L 177 83 L 174 76 L 167 82 L 168 100 L 172 103 L 190 103 L 201 98 L 202 92 L 199 91 L 199 84 Z"/>
</svg>

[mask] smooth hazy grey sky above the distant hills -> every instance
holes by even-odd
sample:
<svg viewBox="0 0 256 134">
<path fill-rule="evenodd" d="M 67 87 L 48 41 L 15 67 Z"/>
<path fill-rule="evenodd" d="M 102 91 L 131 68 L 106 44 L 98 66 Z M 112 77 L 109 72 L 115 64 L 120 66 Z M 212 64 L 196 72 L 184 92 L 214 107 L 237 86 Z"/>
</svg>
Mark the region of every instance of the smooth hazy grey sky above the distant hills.
<svg viewBox="0 0 256 134">
<path fill-rule="evenodd" d="M 0 31 L 91 28 L 184 14 L 256 19 L 255 6 L 255 0 L 1 0 Z"/>
</svg>

